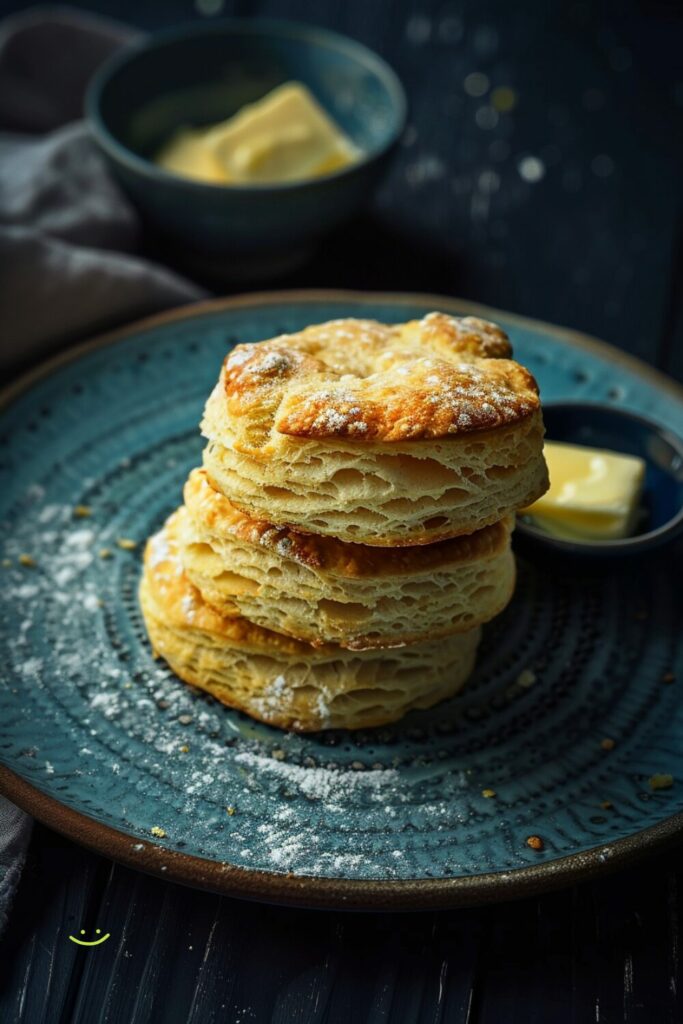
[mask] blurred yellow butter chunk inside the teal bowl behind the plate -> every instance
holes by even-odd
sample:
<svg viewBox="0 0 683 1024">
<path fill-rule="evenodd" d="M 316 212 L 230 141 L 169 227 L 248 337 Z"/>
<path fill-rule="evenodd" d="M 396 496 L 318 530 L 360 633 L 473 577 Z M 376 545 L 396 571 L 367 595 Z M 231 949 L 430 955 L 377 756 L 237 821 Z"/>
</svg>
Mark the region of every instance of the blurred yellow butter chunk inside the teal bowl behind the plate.
<svg viewBox="0 0 683 1024">
<path fill-rule="evenodd" d="M 221 124 L 178 132 L 157 163 L 205 181 L 266 184 L 330 174 L 359 156 L 308 89 L 288 82 Z"/>
</svg>

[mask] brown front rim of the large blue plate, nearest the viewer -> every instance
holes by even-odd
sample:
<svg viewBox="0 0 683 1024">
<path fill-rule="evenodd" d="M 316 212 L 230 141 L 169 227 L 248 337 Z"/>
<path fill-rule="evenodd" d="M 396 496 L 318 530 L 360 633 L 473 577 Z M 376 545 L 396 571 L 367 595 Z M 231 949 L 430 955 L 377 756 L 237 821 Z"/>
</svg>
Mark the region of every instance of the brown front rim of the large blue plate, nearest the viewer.
<svg viewBox="0 0 683 1024">
<path fill-rule="evenodd" d="M 611 843 L 507 871 L 446 879 L 342 879 L 256 870 L 169 850 L 59 803 L 2 764 L 0 794 L 80 846 L 165 882 L 236 899 L 318 910 L 445 910 L 523 899 L 629 867 L 647 853 L 673 846 L 683 829 L 679 811 Z"/>
</svg>

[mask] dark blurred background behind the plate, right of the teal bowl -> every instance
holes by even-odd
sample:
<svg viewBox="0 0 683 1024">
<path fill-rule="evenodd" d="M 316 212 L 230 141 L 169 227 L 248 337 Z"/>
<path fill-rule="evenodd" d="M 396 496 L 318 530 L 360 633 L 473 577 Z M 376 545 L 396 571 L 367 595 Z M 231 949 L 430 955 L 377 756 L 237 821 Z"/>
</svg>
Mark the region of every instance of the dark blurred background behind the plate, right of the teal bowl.
<svg viewBox="0 0 683 1024">
<path fill-rule="evenodd" d="M 681 0 L 72 6 L 143 29 L 216 16 L 203 9 L 301 18 L 394 67 L 410 125 L 369 215 L 273 287 L 458 295 L 587 331 L 683 377 Z M 26 7 L 0 0 L 0 13 Z M 490 92 L 464 87 L 472 73 L 513 89 L 515 108 L 492 117 Z M 520 174 L 529 157 L 535 182 Z"/>
</svg>

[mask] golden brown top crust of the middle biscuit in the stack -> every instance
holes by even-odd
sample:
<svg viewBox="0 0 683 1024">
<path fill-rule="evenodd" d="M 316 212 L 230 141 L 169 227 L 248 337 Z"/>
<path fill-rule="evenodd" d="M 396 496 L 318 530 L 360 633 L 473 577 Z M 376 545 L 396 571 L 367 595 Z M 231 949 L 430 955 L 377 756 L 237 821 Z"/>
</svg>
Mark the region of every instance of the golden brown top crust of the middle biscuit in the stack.
<svg viewBox="0 0 683 1024">
<path fill-rule="evenodd" d="M 229 535 L 247 544 L 261 545 L 309 568 L 341 577 L 403 575 L 462 564 L 502 553 L 508 544 L 511 517 L 468 537 L 456 537 L 421 548 L 371 548 L 332 537 L 299 534 L 274 526 L 237 509 L 214 488 L 205 469 L 194 469 L 183 494 L 193 518 L 217 537 Z"/>
</svg>

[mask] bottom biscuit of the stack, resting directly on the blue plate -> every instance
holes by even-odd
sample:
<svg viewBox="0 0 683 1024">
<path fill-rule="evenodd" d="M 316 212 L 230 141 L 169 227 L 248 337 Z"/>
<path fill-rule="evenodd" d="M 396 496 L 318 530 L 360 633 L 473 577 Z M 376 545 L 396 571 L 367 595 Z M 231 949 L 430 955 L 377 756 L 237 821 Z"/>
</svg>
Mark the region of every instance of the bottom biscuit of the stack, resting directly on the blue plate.
<svg viewBox="0 0 683 1024">
<path fill-rule="evenodd" d="M 146 545 L 139 597 L 155 651 L 180 679 L 270 725 L 307 732 L 384 725 L 453 696 L 479 630 L 393 650 L 311 647 L 210 607 L 183 572 L 178 517 Z"/>
</svg>

